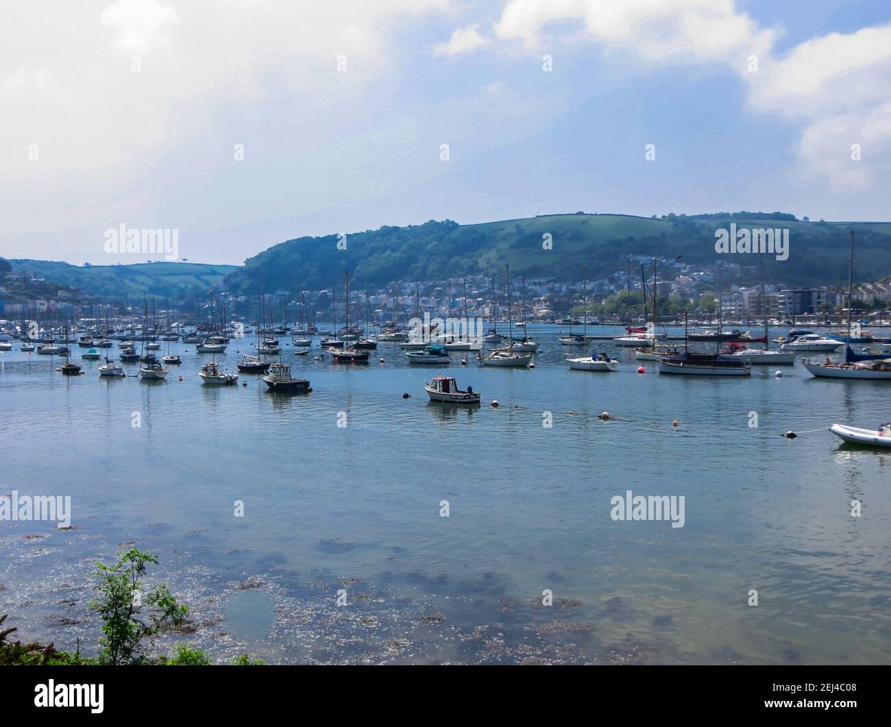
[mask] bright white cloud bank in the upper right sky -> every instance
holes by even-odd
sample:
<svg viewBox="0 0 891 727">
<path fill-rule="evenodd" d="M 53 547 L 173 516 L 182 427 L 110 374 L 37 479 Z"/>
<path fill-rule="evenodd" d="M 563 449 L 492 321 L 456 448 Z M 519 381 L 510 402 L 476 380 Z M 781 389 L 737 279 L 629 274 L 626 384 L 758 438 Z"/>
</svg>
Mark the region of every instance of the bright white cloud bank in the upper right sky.
<svg viewBox="0 0 891 727">
<path fill-rule="evenodd" d="M 509 0 L 495 36 L 529 50 L 567 39 L 565 21 L 587 37 L 642 61 L 718 64 L 748 84 L 751 110 L 799 125 L 797 176 L 824 176 L 834 191 L 854 192 L 889 181 L 891 25 L 831 33 L 773 52 L 777 29 L 761 28 L 733 0 Z M 562 37 L 546 37 L 559 21 Z M 749 72 L 748 56 L 758 70 Z M 861 161 L 851 145 L 862 145 Z"/>
</svg>

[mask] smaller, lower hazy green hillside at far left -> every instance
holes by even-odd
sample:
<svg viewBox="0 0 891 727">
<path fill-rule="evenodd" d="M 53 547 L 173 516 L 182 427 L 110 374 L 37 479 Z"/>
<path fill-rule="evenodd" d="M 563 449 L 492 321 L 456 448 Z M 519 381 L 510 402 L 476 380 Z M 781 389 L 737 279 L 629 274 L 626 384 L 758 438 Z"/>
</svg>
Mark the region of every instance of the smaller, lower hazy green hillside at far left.
<svg viewBox="0 0 891 727">
<path fill-rule="evenodd" d="M 138 263 L 136 265 L 69 265 L 48 260 L 10 260 L 13 273 L 29 272 L 64 286 L 77 285 L 89 295 L 184 298 L 219 285 L 235 265 Z"/>
</svg>

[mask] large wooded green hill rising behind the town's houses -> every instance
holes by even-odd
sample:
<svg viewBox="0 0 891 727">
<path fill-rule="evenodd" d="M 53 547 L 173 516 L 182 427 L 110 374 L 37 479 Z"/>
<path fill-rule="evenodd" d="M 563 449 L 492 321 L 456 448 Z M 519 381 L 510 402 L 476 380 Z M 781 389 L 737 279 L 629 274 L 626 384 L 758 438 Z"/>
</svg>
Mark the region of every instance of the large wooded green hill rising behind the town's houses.
<svg viewBox="0 0 891 727">
<path fill-rule="evenodd" d="M 312 290 L 340 283 L 350 270 L 357 288 L 373 288 L 394 280 L 441 281 L 462 274 L 501 274 L 504 264 L 517 275 L 546 275 L 574 280 L 582 265 L 588 279 L 625 270 L 626 254 L 676 257 L 706 265 L 723 257 L 744 267 L 756 266 L 755 255 L 715 252 L 715 229 L 788 227 L 789 259 L 765 261 L 769 281 L 791 285 L 838 282 L 847 258 L 848 230 L 857 231 L 858 280 L 891 274 L 891 223 L 804 222 L 783 213 L 718 213 L 669 216 L 664 219 L 626 215 L 547 215 L 480 225 L 430 220 L 423 225 L 384 226 L 347 235 L 347 249 L 338 236 L 301 237 L 281 242 L 250 257 L 226 278 L 232 290 Z M 553 249 L 543 249 L 543 235 L 552 235 Z M 749 274 L 751 271 L 749 271 Z"/>
</svg>

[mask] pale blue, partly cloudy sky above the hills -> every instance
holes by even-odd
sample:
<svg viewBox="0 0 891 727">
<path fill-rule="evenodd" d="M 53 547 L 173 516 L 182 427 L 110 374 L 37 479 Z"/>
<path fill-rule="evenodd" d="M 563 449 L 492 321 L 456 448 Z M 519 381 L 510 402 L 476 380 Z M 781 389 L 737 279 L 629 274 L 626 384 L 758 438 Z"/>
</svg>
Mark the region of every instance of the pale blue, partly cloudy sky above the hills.
<svg viewBox="0 0 891 727">
<path fill-rule="evenodd" d="M 3 257 L 147 259 L 106 251 L 120 225 L 240 264 L 429 219 L 887 220 L 889 190 L 887 0 L 0 7 Z"/>
</svg>

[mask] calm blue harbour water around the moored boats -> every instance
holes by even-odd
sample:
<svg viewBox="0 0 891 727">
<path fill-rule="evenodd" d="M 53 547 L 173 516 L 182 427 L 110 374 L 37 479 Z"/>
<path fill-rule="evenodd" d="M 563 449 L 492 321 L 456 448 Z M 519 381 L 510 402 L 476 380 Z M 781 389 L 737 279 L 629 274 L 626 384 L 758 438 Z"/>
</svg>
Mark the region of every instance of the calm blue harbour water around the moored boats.
<svg viewBox="0 0 891 727">
<path fill-rule="evenodd" d="M 192 609 L 190 633 L 166 641 L 219 661 L 891 661 L 891 452 L 824 429 L 891 419 L 887 385 L 800 364 L 783 378 L 638 374 L 622 350 L 620 372 L 573 372 L 563 358 L 580 349 L 556 331 L 530 326 L 535 370 L 454 354 L 475 411 L 429 404 L 437 369 L 396 345 L 367 366 L 286 347 L 306 396 L 244 374 L 247 388 L 202 386 L 209 356 L 189 345 L 158 383 L 0 353 L 0 494 L 68 494 L 75 526 L 0 523 L 0 613 L 22 638 L 94 650 L 92 564 L 136 543 Z M 234 369 L 239 349 L 217 360 Z M 628 489 L 683 495 L 684 527 L 610 519 Z"/>
</svg>

